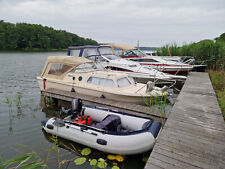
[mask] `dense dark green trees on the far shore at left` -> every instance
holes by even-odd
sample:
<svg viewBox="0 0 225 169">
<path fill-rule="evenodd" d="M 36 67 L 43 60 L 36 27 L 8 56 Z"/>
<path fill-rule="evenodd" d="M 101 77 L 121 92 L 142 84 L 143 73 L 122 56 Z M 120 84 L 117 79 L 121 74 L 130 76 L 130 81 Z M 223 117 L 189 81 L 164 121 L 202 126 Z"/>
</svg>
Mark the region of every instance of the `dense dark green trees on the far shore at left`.
<svg viewBox="0 0 225 169">
<path fill-rule="evenodd" d="M 66 49 L 68 46 L 97 44 L 95 40 L 64 30 L 38 24 L 0 21 L 0 50 Z"/>
</svg>

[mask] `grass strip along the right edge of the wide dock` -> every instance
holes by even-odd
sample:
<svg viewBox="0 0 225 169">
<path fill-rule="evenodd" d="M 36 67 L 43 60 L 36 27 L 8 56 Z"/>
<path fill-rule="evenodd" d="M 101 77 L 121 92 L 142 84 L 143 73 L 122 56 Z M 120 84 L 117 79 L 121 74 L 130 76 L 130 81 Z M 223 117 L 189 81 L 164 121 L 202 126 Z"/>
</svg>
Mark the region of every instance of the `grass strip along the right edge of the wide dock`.
<svg viewBox="0 0 225 169">
<path fill-rule="evenodd" d="M 225 119 L 225 71 L 208 71 L 223 118 Z"/>
</svg>

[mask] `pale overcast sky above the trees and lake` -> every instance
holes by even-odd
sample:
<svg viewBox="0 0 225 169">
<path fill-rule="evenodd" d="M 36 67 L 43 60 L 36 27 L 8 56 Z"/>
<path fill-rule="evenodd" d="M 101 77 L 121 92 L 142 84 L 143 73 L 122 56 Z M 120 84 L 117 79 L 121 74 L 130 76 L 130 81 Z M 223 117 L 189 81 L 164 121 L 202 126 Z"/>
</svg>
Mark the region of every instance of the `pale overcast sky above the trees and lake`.
<svg viewBox="0 0 225 169">
<path fill-rule="evenodd" d="M 99 43 L 181 46 L 225 32 L 225 0 L 0 0 L 0 20 L 41 24 Z"/>
</svg>

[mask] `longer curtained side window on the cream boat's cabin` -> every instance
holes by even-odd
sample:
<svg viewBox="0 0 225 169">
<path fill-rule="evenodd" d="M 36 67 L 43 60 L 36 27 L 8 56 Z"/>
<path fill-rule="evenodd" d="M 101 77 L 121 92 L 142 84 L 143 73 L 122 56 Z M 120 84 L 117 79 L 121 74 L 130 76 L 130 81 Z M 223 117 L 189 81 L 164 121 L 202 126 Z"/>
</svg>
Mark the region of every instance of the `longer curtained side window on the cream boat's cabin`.
<svg viewBox="0 0 225 169">
<path fill-rule="evenodd" d="M 114 82 L 112 79 L 105 79 L 99 77 L 90 77 L 87 83 L 103 86 L 103 87 L 114 87 Z"/>
</svg>

